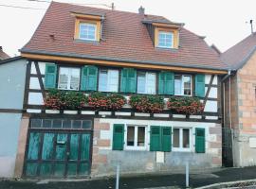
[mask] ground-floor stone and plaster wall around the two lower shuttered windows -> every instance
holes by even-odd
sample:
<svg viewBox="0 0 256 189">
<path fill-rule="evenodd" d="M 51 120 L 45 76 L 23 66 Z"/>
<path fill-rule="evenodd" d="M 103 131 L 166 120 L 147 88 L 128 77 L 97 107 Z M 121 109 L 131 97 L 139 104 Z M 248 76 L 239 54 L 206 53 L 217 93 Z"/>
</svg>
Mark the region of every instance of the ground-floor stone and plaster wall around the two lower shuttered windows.
<svg viewBox="0 0 256 189">
<path fill-rule="evenodd" d="M 158 152 L 149 151 L 149 148 L 148 150 L 125 150 L 125 148 L 121 151 L 112 150 L 113 124 L 188 127 L 192 129 L 192 136 L 194 136 L 195 127 L 204 128 L 206 129 L 206 153 L 195 153 L 194 146 L 191 152 L 159 152 L 164 153 L 165 161 L 156 163 Z M 180 171 L 184 169 L 186 161 L 191 163 L 191 168 L 194 170 L 220 167 L 222 165 L 221 141 L 220 124 L 97 118 L 94 120 L 91 175 L 92 177 L 113 175 L 117 163 L 120 163 L 121 174 Z"/>
</svg>

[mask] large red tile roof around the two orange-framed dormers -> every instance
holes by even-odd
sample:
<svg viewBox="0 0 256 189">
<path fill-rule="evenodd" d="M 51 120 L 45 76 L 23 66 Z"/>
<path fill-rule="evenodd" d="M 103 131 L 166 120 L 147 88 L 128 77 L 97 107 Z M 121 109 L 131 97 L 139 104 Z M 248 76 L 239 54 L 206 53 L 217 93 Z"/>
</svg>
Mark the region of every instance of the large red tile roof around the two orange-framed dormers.
<svg viewBox="0 0 256 189">
<path fill-rule="evenodd" d="M 73 40 L 75 18 L 70 15 L 71 11 L 105 15 L 101 43 Z M 53 2 L 21 52 L 218 70 L 227 68 L 203 39 L 184 27 L 180 30 L 178 49 L 155 48 L 142 24 L 144 19 L 172 23 L 161 16 Z M 52 41 L 49 35 L 54 35 L 55 40 Z"/>
</svg>

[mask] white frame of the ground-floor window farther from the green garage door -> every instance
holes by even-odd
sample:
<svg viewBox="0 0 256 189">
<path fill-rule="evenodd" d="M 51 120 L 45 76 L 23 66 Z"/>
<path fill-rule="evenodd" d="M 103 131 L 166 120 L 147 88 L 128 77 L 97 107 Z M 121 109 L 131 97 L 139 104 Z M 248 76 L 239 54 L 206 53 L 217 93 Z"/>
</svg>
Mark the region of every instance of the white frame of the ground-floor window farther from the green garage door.
<svg viewBox="0 0 256 189">
<path fill-rule="evenodd" d="M 174 147 L 174 129 L 179 129 L 179 147 Z M 189 129 L 190 130 L 190 147 L 186 148 L 183 147 L 183 129 Z M 181 151 L 181 152 L 192 152 L 192 128 L 185 128 L 185 127 L 173 127 L 172 131 L 172 150 L 173 151 Z"/>
</svg>

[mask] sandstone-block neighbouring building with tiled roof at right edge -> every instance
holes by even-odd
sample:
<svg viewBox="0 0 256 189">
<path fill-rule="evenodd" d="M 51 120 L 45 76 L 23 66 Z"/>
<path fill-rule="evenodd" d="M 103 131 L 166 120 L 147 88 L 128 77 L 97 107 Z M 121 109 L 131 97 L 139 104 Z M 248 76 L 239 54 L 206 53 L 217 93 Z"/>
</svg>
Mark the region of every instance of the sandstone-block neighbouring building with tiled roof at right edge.
<svg viewBox="0 0 256 189">
<path fill-rule="evenodd" d="M 231 76 L 224 84 L 224 126 L 232 132 L 227 132 L 226 138 L 231 143 L 224 149 L 227 150 L 224 158 L 234 166 L 256 165 L 255 49 L 256 34 L 253 33 L 221 54 L 231 69 Z"/>
</svg>

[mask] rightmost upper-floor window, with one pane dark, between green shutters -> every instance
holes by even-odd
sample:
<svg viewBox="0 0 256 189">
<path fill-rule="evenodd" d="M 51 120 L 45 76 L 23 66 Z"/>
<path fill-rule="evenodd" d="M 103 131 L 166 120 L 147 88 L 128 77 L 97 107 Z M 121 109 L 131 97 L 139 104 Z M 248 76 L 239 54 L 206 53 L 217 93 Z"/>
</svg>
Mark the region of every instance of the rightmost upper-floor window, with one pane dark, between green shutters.
<svg viewBox="0 0 256 189">
<path fill-rule="evenodd" d="M 174 94 L 192 95 L 192 76 L 175 75 L 174 76 Z"/>
</svg>

